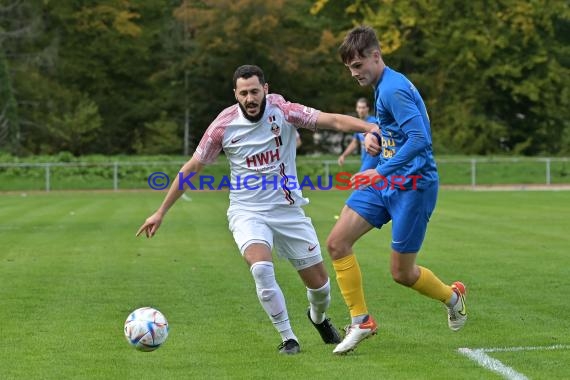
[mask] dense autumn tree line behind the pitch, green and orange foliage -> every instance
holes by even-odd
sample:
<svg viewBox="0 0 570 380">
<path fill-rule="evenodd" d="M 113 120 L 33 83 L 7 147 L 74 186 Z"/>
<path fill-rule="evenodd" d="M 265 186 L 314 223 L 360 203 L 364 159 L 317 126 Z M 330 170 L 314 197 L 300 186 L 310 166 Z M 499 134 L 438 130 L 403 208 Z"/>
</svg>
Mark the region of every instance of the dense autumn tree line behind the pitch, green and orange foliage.
<svg viewBox="0 0 570 380">
<path fill-rule="evenodd" d="M 191 151 L 245 63 L 352 113 L 372 89 L 337 48 L 365 23 L 426 100 L 436 152 L 567 155 L 569 21 L 565 0 L 2 0 L 0 152 Z"/>
</svg>

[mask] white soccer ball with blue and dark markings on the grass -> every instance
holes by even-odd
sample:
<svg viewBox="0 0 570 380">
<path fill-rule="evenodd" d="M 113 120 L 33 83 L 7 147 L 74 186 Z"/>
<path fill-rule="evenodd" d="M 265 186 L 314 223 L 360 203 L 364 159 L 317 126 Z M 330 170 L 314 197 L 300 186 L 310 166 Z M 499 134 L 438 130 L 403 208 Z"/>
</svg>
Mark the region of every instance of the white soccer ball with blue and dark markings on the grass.
<svg viewBox="0 0 570 380">
<path fill-rule="evenodd" d="M 154 351 L 168 337 L 168 322 L 160 311 L 141 307 L 127 317 L 125 337 L 139 351 Z"/>
</svg>

